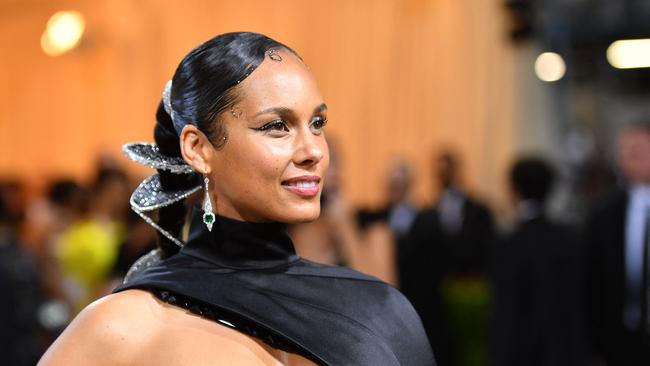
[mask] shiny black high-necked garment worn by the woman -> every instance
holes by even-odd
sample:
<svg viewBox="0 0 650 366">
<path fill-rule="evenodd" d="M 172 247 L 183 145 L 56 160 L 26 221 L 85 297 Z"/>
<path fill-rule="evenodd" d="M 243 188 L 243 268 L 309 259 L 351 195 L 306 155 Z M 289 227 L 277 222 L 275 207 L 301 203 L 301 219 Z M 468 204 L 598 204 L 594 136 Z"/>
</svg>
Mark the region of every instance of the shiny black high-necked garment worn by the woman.
<svg viewBox="0 0 650 366">
<path fill-rule="evenodd" d="M 435 365 L 420 318 L 393 287 L 296 255 L 286 226 L 194 213 L 181 251 L 116 291 L 144 289 L 321 365 Z"/>
</svg>

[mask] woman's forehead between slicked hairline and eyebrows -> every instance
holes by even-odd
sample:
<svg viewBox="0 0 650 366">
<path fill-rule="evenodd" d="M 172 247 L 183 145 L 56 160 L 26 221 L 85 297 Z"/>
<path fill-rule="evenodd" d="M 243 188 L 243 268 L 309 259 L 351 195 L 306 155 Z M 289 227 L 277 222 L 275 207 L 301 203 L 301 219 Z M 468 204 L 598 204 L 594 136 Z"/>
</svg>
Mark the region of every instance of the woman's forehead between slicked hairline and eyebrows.
<svg viewBox="0 0 650 366">
<path fill-rule="evenodd" d="M 283 106 L 313 110 L 323 102 L 320 89 L 307 66 L 290 51 L 275 51 L 277 57 L 264 61 L 240 84 L 243 108 L 266 109 Z"/>
</svg>

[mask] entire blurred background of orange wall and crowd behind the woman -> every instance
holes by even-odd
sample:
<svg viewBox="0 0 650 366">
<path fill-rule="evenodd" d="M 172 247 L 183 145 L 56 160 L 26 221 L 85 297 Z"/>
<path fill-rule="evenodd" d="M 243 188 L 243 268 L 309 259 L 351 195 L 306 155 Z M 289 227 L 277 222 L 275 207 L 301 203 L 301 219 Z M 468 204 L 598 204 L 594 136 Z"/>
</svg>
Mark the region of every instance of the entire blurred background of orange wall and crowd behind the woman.
<svg viewBox="0 0 650 366">
<path fill-rule="evenodd" d="M 0 364 L 155 247 L 129 209 L 162 88 L 216 34 L 330 109 L 303 257 L 398 287 L 441 366 L 650 365 L 650 1 L 0 0 Z M 362 296 L 362 294 L 359 294 Z"/>
</svg>

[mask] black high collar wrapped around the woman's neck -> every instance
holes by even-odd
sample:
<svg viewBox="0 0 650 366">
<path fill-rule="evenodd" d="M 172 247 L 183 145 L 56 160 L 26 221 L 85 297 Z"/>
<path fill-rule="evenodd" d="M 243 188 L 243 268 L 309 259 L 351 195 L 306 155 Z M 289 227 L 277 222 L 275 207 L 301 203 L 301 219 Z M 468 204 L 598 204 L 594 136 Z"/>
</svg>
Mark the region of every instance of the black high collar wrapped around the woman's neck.
<svg viewBox="0 0 650 366">
<path fill-rule="evenodd" d="M 300 259 L 281 223 L 251 223 L 217 216 L 208 231 L 203 210 L 195 208 L 185 254 L 236 269 L 268 269 Z"/>
</svg>

